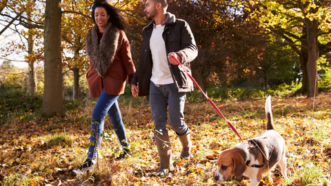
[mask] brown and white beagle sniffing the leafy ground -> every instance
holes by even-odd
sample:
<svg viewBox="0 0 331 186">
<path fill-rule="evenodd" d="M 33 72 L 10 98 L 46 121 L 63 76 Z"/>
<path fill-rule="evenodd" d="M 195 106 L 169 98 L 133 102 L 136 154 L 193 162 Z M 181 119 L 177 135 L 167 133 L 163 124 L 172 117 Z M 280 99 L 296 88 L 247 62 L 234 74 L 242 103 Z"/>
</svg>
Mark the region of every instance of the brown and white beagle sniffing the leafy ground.
<svg viewBox="0 0 331 186">
<path fill-rule="evenodd" d="M 250 185 L 259 185 L 262 174 L 270 172 L 277 163 L 281 167 L 281 174 L 286 179 L 285 141 L 274 130 L 272 120 L 271 101 L 268 96 L 265 101 L 265 114 L 267 115 L 267 130 L 245 143 L 238 143 L 230 149 L 219 154 L 217 164 L 219 168 L 214 179 L 223 183 L 230 176 L 247 176 Z"/>
</svg>

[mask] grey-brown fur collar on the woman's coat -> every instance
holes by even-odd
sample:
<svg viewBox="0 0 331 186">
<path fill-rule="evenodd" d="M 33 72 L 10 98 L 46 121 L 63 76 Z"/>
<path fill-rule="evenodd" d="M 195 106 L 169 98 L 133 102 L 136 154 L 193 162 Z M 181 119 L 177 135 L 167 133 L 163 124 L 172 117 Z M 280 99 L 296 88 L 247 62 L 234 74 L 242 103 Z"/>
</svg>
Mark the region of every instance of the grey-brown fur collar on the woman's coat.
<svg viewBox="0 0 331 186">
<path fill-rule="evenodd" d="M 97 70 L 99 76 L 105 77 L 108 69 L 112 66 L 112 61 L 119 43 L 120 31 L 112 23 L 107 23 L 103 36 L 99 43 L 98 25 L 95 24 L 86 37 L 86 52 L 90 61 Z"/>
</svg>

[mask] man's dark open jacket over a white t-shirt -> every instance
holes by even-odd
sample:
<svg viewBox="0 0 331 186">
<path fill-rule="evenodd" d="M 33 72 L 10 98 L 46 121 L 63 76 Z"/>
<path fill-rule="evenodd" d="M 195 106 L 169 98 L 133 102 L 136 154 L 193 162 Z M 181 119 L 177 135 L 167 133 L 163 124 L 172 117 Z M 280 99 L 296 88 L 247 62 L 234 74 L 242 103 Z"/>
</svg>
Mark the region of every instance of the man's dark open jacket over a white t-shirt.
<svg viewBox="0 0 331 186">
<path fill-rule="evenodd" d="M 143 46 L 140 52 L 139 67 L 132 76 L 131 84 L 139 84 L 139 96 L 150 94 L 150 78 L 152 76 L 152 53 L 150 52 L 150 37 L 153 31 L 152 21 L 143 28 Z M 198 48 L 194 41 L 190 26 L 186 21 L 176 19 L 174 14 L 167 13 L 165 28 L 162 34 L 167 57 L 170 52 L 176 52 L 181 56 L 181 65 L 191 73 L 190 62 L 198 55 Z M 172 65 L 168 61 L 172 79 L 178 92 L 190 92 L 193 90 L 193 83 L 185 74 L 180 65 Z M 137 84 L 138 83 L 138 84 Z"/>
</svg>

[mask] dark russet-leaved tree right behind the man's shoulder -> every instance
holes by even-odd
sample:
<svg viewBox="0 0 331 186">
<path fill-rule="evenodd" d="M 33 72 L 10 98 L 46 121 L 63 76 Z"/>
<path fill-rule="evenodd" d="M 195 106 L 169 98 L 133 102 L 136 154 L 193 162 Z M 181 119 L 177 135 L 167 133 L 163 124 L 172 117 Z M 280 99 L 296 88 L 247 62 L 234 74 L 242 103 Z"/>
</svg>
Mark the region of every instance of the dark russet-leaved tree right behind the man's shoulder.
<svg viewBox="0 0 331 186">
<path fill-rule="evenodd" d="M 242 5 L 237 1 L 189 2 L 172 1 L 169 10 L 192 29 L 199 48 L 192 72 L 203 90 L 208 85 L 231 86 L 253 79 L 265 43 L 257 24 L 246 20 Z"/>
</svg>

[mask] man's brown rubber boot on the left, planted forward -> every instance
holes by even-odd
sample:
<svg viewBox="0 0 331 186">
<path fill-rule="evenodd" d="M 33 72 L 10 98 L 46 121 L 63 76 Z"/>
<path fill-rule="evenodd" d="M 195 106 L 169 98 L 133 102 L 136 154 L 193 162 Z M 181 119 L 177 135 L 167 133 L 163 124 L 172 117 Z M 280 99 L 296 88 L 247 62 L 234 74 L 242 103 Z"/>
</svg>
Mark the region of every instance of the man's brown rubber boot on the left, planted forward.
<svg viewBox="0 0 331 186">
<path fill-rule="evenodd" d="M 159 171 L 154 174 L 150 174 L 150 177 L 165 177 L 168 176 L 169 172 L 174 171 L 171 157 L 171 144 L 168 131 L 155 132 L 154 133 L 155 143 L 157 143 L 157 151 L 160 157 L 160 168 Z"/>
</svg>

